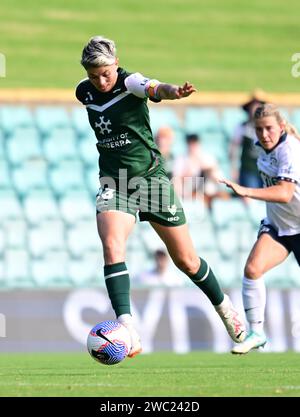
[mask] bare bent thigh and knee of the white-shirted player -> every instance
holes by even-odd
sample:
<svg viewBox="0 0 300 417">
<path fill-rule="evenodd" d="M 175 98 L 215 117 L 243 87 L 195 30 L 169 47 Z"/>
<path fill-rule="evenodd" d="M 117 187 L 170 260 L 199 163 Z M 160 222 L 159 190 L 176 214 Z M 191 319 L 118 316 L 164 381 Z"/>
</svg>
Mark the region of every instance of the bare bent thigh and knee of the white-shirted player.
<svg viewBox="0 0 300 417">
<path fill-rule="evenodd" d="M 262 233 L 249 254 L 245 272 L 260 276 L 281 264 L 288 255 L 288 250 L 281 243 L 268 233 Z"/>
</svg>

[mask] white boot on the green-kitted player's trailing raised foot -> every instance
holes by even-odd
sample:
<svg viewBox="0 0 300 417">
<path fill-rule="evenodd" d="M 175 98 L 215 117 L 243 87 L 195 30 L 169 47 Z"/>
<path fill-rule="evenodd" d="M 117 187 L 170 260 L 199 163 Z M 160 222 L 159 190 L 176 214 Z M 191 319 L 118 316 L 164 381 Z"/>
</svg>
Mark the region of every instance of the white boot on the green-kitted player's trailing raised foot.
<svg viewBox="0 0 300 417">
<path fill-rule="evenodd" d="M 216 312 L 221 317 L 231 339 L 241 343 L 246 337 L 246 326 L 239 313 L 234 309 L 228 295 L 224 294 L 224 300 L 215 306 Z"/>
</svg>

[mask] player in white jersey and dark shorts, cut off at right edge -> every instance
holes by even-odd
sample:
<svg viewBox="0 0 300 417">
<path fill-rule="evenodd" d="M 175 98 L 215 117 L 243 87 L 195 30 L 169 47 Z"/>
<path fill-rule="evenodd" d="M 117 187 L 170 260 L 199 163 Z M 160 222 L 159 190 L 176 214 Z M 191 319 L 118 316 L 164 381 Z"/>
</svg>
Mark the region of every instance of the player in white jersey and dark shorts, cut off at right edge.
<svg viewBox="0 0 300 417">
<path fill-rule="evenodd" d="M 264 188 L 242 187 L 222 180 L 242 197 L 266 201 L 267 217 L 246 262 L 243 303 L 250 332 L 232 353 L 243 354 L 264 346 L 266 289 L 263 275 L 293 252 L 300 265 L 300 136 L 278 109 L 265 104 L 254 115 L 260 153 L 257 166 Z"/>
</svg>

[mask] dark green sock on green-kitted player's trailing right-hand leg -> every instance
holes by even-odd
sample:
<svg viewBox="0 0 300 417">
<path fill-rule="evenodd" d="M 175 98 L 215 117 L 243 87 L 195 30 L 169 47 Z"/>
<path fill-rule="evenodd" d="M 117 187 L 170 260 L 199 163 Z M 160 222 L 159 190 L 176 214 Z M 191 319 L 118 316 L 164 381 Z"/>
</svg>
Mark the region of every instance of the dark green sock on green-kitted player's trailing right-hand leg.
<svg viewBox="0 0 300 417">
<path fill-rule="evenodd" d="M 209 265 L 202 258 L 200 258 L 200 261 L 199 271 L 195 275 L 190 276 L 190 279 L 204 292 L 211 303 L 217 306 L 224 300 L 224 293 Z"/>
</svg>

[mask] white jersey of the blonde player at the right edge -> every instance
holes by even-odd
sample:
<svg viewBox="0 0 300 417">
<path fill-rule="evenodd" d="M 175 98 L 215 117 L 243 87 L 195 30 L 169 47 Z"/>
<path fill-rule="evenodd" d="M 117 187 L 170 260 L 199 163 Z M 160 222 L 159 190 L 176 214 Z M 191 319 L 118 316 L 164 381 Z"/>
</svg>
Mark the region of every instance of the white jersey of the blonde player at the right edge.
<svg viewBox="0 0 300 417">
<path fill-rule="evenodd" d="M 300 233 L 300 140 L 284 134 L 279 144 L 270 152 L 259 146 L 257 166 L 264 187 L 275 185 L 278 181 L 296 184 L 289 203 L 267 202 L 266 222 L 271 224 L 279 236 Z"/>
</svg>

